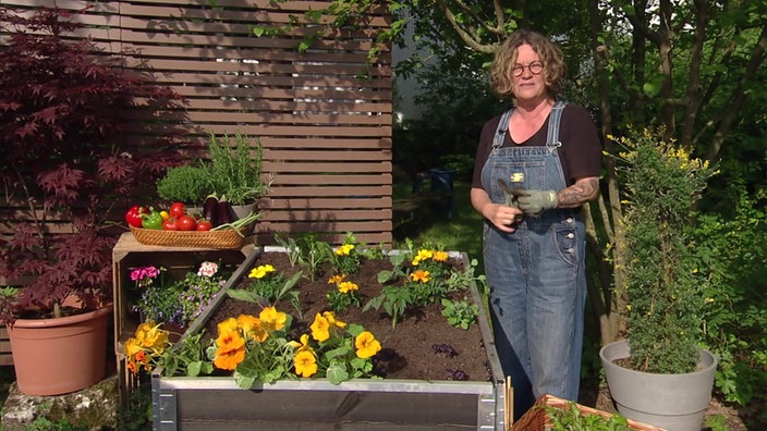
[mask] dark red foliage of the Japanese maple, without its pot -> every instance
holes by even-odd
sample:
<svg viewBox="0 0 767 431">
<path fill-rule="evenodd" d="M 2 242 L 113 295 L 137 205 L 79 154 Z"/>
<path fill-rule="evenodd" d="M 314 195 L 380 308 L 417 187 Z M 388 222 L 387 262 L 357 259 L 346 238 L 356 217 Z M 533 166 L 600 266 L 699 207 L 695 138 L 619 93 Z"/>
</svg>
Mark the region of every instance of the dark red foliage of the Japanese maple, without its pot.
<svg viewBox="0 0 767 431">
<path fill-rule="evenodd" d="M 59 313 L 73 293 L 109 300 L 109 227 L 179 164 L 174 136 L 141 147 L 125 139 L 125 119 L 157 121 L 178 95 L 71 38 L 77 14 L 0 7 L 0 276 L 24 286 L 4 296 L 0 322 Z M 127 115 L 136 110 L 146 113 Z"/>
</svg>

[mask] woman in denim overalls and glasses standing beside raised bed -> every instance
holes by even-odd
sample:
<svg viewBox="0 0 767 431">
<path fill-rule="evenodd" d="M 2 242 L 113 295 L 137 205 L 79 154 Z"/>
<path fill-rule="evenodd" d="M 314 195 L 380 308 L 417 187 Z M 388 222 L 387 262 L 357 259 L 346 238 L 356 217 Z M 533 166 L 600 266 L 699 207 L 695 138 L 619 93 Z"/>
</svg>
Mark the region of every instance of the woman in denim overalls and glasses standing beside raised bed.
<svg viewBox="0 0 767 431">
<path fill-rule="evenodd" d="M 529 30 L 496 53 L 490 85 L 514 107 L 483 128 L 471 198 L 483 214 L 496 347 L 514 417 L 544 394 L 577 399 L 586 296 L 580 208 L 599 193 L 600 144 L 588 112 L 557 101 L 561 51 Z"/>
</svg>

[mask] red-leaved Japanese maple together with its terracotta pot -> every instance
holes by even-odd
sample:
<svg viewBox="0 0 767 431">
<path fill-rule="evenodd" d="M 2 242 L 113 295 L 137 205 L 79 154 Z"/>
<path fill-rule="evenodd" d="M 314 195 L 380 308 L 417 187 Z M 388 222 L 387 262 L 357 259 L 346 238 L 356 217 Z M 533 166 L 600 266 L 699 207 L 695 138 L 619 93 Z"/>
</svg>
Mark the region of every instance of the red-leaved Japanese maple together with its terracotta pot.
<svg viewBox="0 0 767 431">
<path fill-rule="evenodd" d="M 175 96 L 92 57 L 90 42 L 65 40 L 76 28 L 63 20 L 70 14 L 0 9 L 10 35 L 0 50 L 0 177 L 12 230 L 0 239 L 0 276 L 21 286 L 2 296 L 0 322 L 17 386 L 33 395 L 77 391 L 104 377 L 115 243 L 109 226 L 122 219 L 119 202 L 135 194 L 134 178 L 151 177 L 173 159 L 131 155 L 117 138 L 125 110 L 137 109 L 135 97 L 157 109 Z M 57 233 L 62 225 L 71 230 Z M 65 342 L 56 345 L 60 336 Z M 76 345 L 78 336 L 95 349 Z"/>
</svg>

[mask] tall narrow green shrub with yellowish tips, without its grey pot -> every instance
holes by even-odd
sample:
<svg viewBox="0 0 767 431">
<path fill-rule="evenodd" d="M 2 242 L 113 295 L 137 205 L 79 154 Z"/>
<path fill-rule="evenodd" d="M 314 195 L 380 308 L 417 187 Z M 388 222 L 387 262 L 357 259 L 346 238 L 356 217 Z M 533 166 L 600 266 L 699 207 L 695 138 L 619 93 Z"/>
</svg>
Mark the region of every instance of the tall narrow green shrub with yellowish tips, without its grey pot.
<svg viewBox="0 0 767 431">
<path fill-rule="evenodd" d="M 687 225 L 716 173 L 663 138 L 661 128 L 629 130 L 618 139 L 625 226 L 625 296 L 632 368 L 691 372 L 702 343 L 706 280 L 696 268 Z"/>
</svg>

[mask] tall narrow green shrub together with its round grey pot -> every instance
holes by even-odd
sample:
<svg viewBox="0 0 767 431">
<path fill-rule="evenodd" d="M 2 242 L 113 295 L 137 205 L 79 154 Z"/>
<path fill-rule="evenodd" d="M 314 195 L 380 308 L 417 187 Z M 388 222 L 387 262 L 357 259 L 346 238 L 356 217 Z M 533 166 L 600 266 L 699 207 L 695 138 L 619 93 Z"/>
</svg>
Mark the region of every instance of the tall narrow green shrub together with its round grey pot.
<svg viewBox="0 0 767 431">
<path fill-rule="evenodd" d="M 698 431 L 717 359 L 701 347 L 705 297 L 687 230 L 715 169 L 662 130 L 630 131 L 619 143 L 625 196 L 628 340 L 599 353 L 610 394 L 629 419 Z"/>
</svg>

